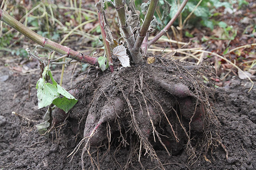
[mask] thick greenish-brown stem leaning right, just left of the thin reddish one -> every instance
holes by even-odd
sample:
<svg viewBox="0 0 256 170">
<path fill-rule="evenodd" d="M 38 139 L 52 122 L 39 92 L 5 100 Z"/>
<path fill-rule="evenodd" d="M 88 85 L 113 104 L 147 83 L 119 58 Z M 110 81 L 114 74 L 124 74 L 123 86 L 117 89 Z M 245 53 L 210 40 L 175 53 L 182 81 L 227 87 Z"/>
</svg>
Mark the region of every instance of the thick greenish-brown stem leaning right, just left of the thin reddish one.
<svg viewBox="0 0 256 170">
<path fill-rule="evenodd" d="M 155 8 L 157 7 L 157 3 L 158 3 L 158 0 L 151 0 L 150 1 L 150 5 L 148 7 L 145 20 L 144 20 L 144 22 L 141 26 L 140 34 L 138 35 L 137 40 L 136 40 L 135 45 L 134 45 L 134 48 L 133 48 L 135 53 L 140 52 L 142 42 L 144 40 L 144 37 L 147 34 L 148 27 L 150 26 L 150 22 L 152 20 L 152 17 L 154 16 L 154 12 L 155 12 Z"/>
</svg>

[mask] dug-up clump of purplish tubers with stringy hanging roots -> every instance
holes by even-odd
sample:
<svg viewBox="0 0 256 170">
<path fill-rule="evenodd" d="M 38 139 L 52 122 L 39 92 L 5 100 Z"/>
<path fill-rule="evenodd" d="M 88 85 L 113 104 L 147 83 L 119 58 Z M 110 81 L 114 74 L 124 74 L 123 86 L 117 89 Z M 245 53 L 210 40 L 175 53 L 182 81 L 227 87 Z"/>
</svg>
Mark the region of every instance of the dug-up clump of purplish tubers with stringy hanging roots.
<svg viewBox="0 0 256 170">
<path fill-rule="evenodd" d="M 214 139 L 209 136 L 210 130 L 212 130 L 211 125 L 214 124 L 213 120 L 215 121 L 216 117 L 211 114 L 213 111 L 207 98 L 207 89 L 197 81 L 193 76 L 195 74 L 189 72 L 186 74 L 184 68 L 174 61 L 173 63 L 173 66 L 168 67 L 163 79 L 156 72 L 148 74 L 143 72 L 145 69 L 138 68 L 140 69 L 138 72 L 126 70 L 135 78 L 121 76 L 124 73 L 124 70 L 121 70 L 116 75 L 118 79 L 113 78 L 114 76 L 104 75 L 104 81 L 107 82 L 95 83 L 97 86 L 93 86 L 97 89 L 90 91 L 93 96 L 86 97 L 90 101 L 86 101 L 83 115 L 79 115 L 82 116 L 79 117 L 81 118 L 79 119 L 80 129 L 82 122 L 86 119 L 84 137 L 69 154 L 69 156 L 72 155 L 71 160 L 83 145 L 81 156 L 83 170 L 88 165 L 85 160 L 89 161 L 89 158 L 91 169 L 100 169 L 100 164 L 106 155 L 111 156 L 111 164 L 116 169 L 164 170 L 167 165 L 180 164 L 162 163 L 154 150 L 155 148 L 161 148 L 166 156 L 167 154 L 170 156 L 180 152 L 184 144 L 189 162 L 194 164 L 201 157 L 200 154 L 207 156 L 205 150 L 208 151 L 217 144 L 221 145 L 217 140 L 218 137 L 214 136 L 216 137 Z M 156 66 L 156 69 L 154 67 L 155 70 L 152 69 L 152 71 L 166 69 Z M 150 68 L 149 66 L 143 67 L 147 67 L 148 70 Z M 128 72 L 126 73 L 128 74 Z M 173 77 L 169 77 L 170 72 Z M 122 81 L 119 78 L 123 78 Z M 193 78 L 196 80 L 194 81 Z M 106 86 L 107 83 L 109 86 Z M 188 111 L 184 112 L 183 110 L 186 109 Z M 206 122 L 208 124 L 204 126 Z M 200 133 L 200 137 L 197 137 L 198 133 Z M 105 146 L 106 152 L 102 153 L 103 156 L 99 154 L 98 147 L 96 155 L 95 152 L 92 152 L 93 146 L 99 145 Z M 112 150 L 112 147 L 116 145 L 118 146 Z M 119 163 L 117 155 L 123 146 L 129 146 L 129 151 L 125 162 L 120 161 Z M 222 147 L 225 148 L 224 145 Z M 145 155 L 151 158 L 151 161 L 153 160 L 155 163 L 154 166 L 157 167 L 142 165 Z M 141 167 L 138 168 L 140 165 Z M 187 167 L 187 169 L 189 168 Z"/>
</svg>

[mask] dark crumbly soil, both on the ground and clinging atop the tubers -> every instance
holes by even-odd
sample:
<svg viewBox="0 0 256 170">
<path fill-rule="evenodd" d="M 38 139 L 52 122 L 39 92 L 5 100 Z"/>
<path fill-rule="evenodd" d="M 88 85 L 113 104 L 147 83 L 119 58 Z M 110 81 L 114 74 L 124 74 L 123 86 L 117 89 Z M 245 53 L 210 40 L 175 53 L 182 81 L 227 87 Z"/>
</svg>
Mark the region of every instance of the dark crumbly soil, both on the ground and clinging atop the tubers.
<svg viewBox="0 0 256 170">
<path fill-rule="evenodd" d="M 144 73 L 144 82 L 150 81 L 150 79 L 152 80 L 152 75 L 163 77 L 178 75 L 176 77 L 178 82 L 183 82 L 183 84 L 191 81 L 190 76 L 184 76 L 188 75 L 187 72 L 190 72 L 191 76 L 194 75 L 194 72 L 186 69 L 190 68 L 188 64 L 183 63 L 183 67 L 185 68 L 178 66 L 179 69 L 175 70 L 174 63 L 171 63 L 168 63 L 167 67 L 163 66 L 163 68 L 160 68 L 159 64 L 155 65 L 154 69 L 148 70 L 147 74 Z M 115 73 L 115 76 L 119 75 L 119 81 L 115 80 L 115 77 L 111 77 L 111 74 L 107 72 L 102 74 L 100 71 L 92 69 L 90 71 L 91 73 L 89 72 L 89 74 L 86 75 L 87 78 L 83 80 L 83 83 L 80 82 L 75 86 L 78 89 L 80 88 L 79 90 L 81 90 L 81 88 L 84 88 L 83 90 L 85 90 L 86 87 L 90 87 L 89 90 L 86 91 L 88 95 L 79 96 L 79 98 L 83 97 L 83 100 L 79 100 L 79 108 L 74 108 L 72 112 L 70 112 L 71 118 L 66 120 L 62 126 L 53 129 L 50 135 L 46 137 L 40 136 L 35 127 L 35 125 L 43 121 L 43 115 L 46 111 L 46 108 L 40 110 L 37 109 L 35 85 L 39 78 L 38 75 L 21 75 L 9 67 L 1 66 L 0 98 L 2 100 L 0 101 L 0 169 L 80 170 L 82 149 L 78 150 L 78 152 L 73 156 L 71 162 L 69 162 L 71 156 L 68 158 L 67 156 L 81 140 L 81 135 L 76 136 L 76 133 L 73 133 L 79 132 L 79 129 L 74 125 L 77 123 L 78 118 L 81 120 L 82 116 L 87 114 L 86 107 L 83 108 L 83 106 L 91 103 L 89 101 L 92 100 L 90 98 L 92 98 L 93 92 L 97 88 L 96 85 L 100 84 L 100 82 L 109 84 L 109 86 L 101 87 L 99 89 L 103 89 L 103 91 L 104 88 L 112 89 L 113 94 L 106 94 L 106 96 L 109 96 L 109 99 L 112 100 L 111 97 L 113 96 L 115 98 L 118 95 L 121 96 L 114 89 L 114 87 L 117 86 L 117 84 L 115 84 L 116 82 L 119 82 L 119 86 L 122 86 L 123 89 L 129 89 L 131 86 L 121 84 L 124 81 L 128 81 L 126 79 L 127 75 L 130 79 L 135 78 L 140 80 L 140 74 L 138 73 L 140 73 L 140 70 L 148 68 L 152 68 L 152 65 L 146 65 L 144 68 L 138 68 L 138 72 L 134 72 L 132 70 L 134 67 L 120 69 Z M 150 73 L 149 71 L 154 72 Z M 161 75 L 159 75 L 157 71 L 162 71 L 160 72 Z M 176 74 L 179 71 L 181 71 L 180 74 Z M 125 76 L 125 74 L 127 75 Z M 71 74 L 69 76 L 71 78 Z M 182 79 L 180 77 L 182 77 Z M 58 78 L 56 79 L 58 80 Z M 70 87 L 70 80 L 68 78 L 66 79 L 67 80 L 64 84 L 67 88 Z M 78 81 L 78 79 L 81 79 L 81 76 L 74 74 L 73 84 Z M 175 78 L 171 79 L 174 80 Z M 92 82 L 94 82 L 94 84 Z M 151 85 L 154 83 L 149 82 L 149 84 Z M 199 84 L 200 83 L 198 82 L 197 85 L 199 86 Z M 215 140 L 212 140 L 212 143 L 209 143 L 210 147 L 207 150 L 208 152 L 205 152 L 207 149 L 207 143 L 205 146 L 199 146 L 197 141 L 204 140 L 205 135 L 204 133 L 196 132 L 196 128 L 194 129 L 194 138 L 191 140 L 192 143 L 194 143 L 193 147 L 196 148 L 197 154 L 201 153 L 196 159 L 191 159 L 188 149 L 183 147 L 187 142 L 185 139 L 183 140 L 184 143 L 178 144 L 180 146 L 178 146 L 175 141 L 170 144 L 172 151 L 171 156 L 168 156 L 160 143 L 154 145 L 155 152 L 163 163 L 164 168 L 175 170 L 255 169 L 256 88 L 253 87 L 253 89 L 247 93 L 250 86 L 250 83 L 246 80 L 242 81 L 239 79 L 232 79 L 229 82 L 226 82 L 223 87 L 215 89 L 212 92 L 213 95 L 209 96 L 213 112 L 220 122 L 220 128 L 217 129 L 216 126 L 208 127 L 211 130 L 210 132 L 212 132 L 209 134 L 212 135 L 213 138 L 216 137 Z M 153 88 L 155 87 L 157 86 L 153 86 Z M 188 87 L 192 89 L 193 85 L 188 85 Z M 160 89 L 158 89 L 158 91 L 160 91 Z M 143 92 L 147 93 L 146 90 Z M 161 93 L 164 101 L 170 98 L 167 94 L 167 91 L 162 91 Z M 101 95 L 100 93 L 96 93 L 95 96 L 97 95 L 101 96 L 104 95 L 104 93 L 101 92 Z M 129 99 L 131 102 L 135 103 L 135 101 L 132 101 L 131 96 Z M 105 101 L 106 100 L 108 99 L 105 98 Z M 157 100 L 161 101 L 161 98 L 159 97 Z M 169 102 L 172 103 L 174 101 L 169 99 Z M 101 110 L 105 103 L 101 97 L 98 101 L 98 105 L 95 105 L 95 103 L 92 103 L 92 105 L 94 106 L 91 108 L 94 108 L 94 110 L 91 110 L 91 112 L 94 112 Z M 172 106 L 174 106 L 174 104 Z M 164 108 L 166 107 L 167 106 L 164 106 Z M 78 110 L 80 110 L 79 113 Z M 82 121 L 85 120 L 81 120 L 81 122 Z M 124 124 L 125 123 L 128 125 L 128 122 L 124 122 Z M 171 123 L 176 126 L 178 125 L 175 124 L 174 121 Z M 114 127 L 114 124 L 111 124 L 110 127 Z M 213 127 L 215 127 L 215 129 L 212 129 Z M 160 169 L 160 166 L 154 160 L 152 161 L 148 154 L 144 155 L 145 152 L 142 152 L 140 162 L 138 162 L 137 153 L 139 153 L 138 149 L 140 149 L 140 141 L 136 136 L 134 137 L 132 132 L 129 133 L 131 135 L 127 137 L 127 139 L 129 139 L 127 140 L 129 143 L 127 147 L 123 146 L 122 143 L 119 142 L 118 137 L 120 136 L 120 133 L 117 135 L 116 133 L 111 134 L 111 143 L 108 143 L 108 140 L 102 139 L 102 141 L 99 142 L 101 143 L 100 146 L 98 145 L 99 147 L 92 146 L 90 149 L 90 153 L 100 169 L 143 169 L 143 167 L 145 169 L 152 170 Z M 107 139 L 107 137 L 109 136 L 106 136 L 105 138 Z M 153 139 L 151 138 L 152 135 L 149 137 L 149 140 L 152 141 Z M 122 139 L 120 139 L 120 141 L 121 140 Z M 165 144 L 166 143 L 167 142 L 165 142 Z M 198 146 L 196 144 L 198 144 Z M 109 145 L 111 146 L 109 147 Z M 171 147 L 172 145 L 175 147 Z M 179 147 L 179 149 L 175 150 L 174 148 L 177 147 Z M 136 150 L 136 152 L 131 154 L 131 151 L 133 150 Z M 129 157 L 131 155 L 133 157 Z M 85 154 L 84 159 L 85 169 L 92 169 L 90 157 Z"/>
</svg>

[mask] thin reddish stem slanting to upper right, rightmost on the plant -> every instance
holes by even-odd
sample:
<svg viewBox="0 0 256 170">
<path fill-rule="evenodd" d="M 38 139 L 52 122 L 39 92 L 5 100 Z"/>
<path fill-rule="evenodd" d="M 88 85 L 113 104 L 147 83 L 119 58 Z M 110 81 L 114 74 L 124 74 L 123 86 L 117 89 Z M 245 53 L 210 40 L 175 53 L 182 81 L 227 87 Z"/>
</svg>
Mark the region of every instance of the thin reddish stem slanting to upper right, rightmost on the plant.
<svg viewBox="0 0 256 170">
<path fill-rule="evenodd" d="M 177 13 L 174 15 L 173 18 L 171 18 L 171 20 L 169 21 L 169 23 L 164 27 L 163 30 L 161 30 L 157 35 L 155 35 L 155 37 L 150 40 L 148 42 L 148 46 L 150 46 L 151 44 L 154 44 L 159 38 L 162 37 L 162 35 L 164 35 L 164 33 L 169 30 L 169 28 L 173 25 L 174 21 L 178 18 L 178 16 L 180 15 L 181 11 L 183 10 L 183 8 L 186 6 L 188 0 L 184 0 L 181 3 L 180 8 L 178 9 Z"/>
</svg>

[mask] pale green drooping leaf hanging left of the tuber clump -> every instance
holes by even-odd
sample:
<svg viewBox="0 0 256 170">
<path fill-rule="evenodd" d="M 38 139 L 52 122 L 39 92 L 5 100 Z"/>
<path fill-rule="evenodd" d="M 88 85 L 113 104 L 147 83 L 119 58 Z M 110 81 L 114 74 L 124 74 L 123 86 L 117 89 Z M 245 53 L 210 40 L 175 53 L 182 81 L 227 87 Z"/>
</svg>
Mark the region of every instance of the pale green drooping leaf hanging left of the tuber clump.
<svg viewBox="0 0 256 170">
<path fill-rule="evenodd" d="M 45 83 L 43 78 L 40 78 L 36 84 L 38 108 L 43 108 L 52 103 L 52 101 L 59 97 L 56 85 Z"/>
</svg>

